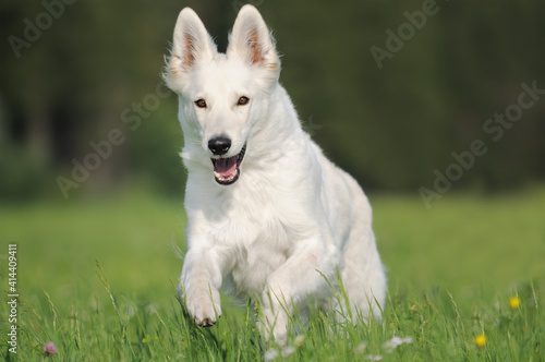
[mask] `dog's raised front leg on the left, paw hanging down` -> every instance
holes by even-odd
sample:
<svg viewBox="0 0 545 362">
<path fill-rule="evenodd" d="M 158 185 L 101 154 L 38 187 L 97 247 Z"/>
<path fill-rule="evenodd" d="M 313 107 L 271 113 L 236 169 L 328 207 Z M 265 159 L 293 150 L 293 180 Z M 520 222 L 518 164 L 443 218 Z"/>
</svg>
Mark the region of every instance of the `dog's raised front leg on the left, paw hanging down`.
<svg viewBox="0 0 545 362">
<path fill-rule="evenodd" d="M 190 250 L 180 276 L 182 298 L 187 312 L 202 327 L 210 327 L 221 316 L 218 289 L 221 287 L 221 264 L 214 250 Z"/>
</svg>

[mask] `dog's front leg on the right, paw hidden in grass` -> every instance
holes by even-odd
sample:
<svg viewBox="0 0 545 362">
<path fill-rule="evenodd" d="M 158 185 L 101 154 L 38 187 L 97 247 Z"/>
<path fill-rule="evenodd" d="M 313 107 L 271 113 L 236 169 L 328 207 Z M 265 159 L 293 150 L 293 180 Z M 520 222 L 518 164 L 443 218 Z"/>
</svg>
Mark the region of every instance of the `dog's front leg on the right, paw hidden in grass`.
<svg viewBox="0 0 545 362">
<path fill-rule="evenodd" d="M 258 322 L 262 336 L 272 335 L 283 346 L 288 338 L 288 324 L 293 306 L 303 306 L 308 297 L 324 297 L 330 292 L 327 278 L 335 273 L 337 254 L 327 243 L 305 240 L 293 254 L 267 279 L 262 294 L 263 316 Z"/>
</svg>

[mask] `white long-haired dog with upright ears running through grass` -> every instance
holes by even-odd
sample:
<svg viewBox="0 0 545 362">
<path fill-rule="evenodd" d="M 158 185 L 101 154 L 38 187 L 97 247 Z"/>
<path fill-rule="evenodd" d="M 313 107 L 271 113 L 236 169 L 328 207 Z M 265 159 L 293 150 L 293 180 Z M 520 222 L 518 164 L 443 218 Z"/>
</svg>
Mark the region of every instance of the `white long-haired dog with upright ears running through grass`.
<svg viewBox="0 0 545 362">
<path fill-rule="evenodd" d="M 302 130 L 279 74 L 254 7 L 241 9 L 226 53 L 193 10 L 181 11 L 165 79 L 179 95 L 189 170 L 186 309 L 197 325 L 214 325 L 229 280 L 261 298 L 259 330 L 281 345 L 294 307 L 347 306 L 330 283 L 342 286 L 354 323 L 380 319 L 386 277 L 367 198 Z"/>
</svg>

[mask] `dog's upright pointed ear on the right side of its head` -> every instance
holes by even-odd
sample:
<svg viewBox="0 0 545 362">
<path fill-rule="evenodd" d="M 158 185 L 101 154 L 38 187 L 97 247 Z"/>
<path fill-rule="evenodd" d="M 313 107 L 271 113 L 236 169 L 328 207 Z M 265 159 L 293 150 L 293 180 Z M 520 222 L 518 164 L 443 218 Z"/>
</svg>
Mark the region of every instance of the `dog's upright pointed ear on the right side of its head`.
<svg viewBox="0 0 545 362">
<path fill-rule="evenodd" d="M 242 7 L 234 21 L 227 55 L 237 52 L 251 64 L 280 72 L 280 59 L 262 15 L 253 5 Z"/>
</svg>

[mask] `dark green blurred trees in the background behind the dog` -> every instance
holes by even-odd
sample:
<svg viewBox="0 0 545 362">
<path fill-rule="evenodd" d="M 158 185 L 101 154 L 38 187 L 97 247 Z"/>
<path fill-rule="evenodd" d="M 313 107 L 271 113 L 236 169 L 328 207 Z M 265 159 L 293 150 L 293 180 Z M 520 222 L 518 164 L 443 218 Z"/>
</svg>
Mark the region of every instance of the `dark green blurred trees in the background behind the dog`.
<svg viewBox="0 0 545 362">
<path fill-rule="evenodd" d="M 89 143 L 107 140 L 112 129 L 126 142 L 71 195 L 132 184 L 181 194 L 175 98 L 143 105 L 161 82 L 181 8 L 194 8 L 225 50 L 242 3 L 65 1 L 0 4 L 0 200 L 62 197 L 57 178 L 69 178 L 73 160 L 82 161 L 93 152 Z M 281 82 L 303 125 L 364 188 L 432 188 L 434 170 L 444 172 L 453 152 L 479 138 L 488 152 L 457 181 L 459 190 L 545 177 L 545 97 L 499 141 L 483 132 L 487 119 L 518 101 L 522 83 L 545 88 L 543 2 L 438 1 L 420 24 L 409 17 L 426 1 L 253 3 L 286 55 Z M 40 29 L 43 13 L 51 22 Z M 41 31 L 34 41 L 25 38 L 28 23 Z M 388 50 L 388 29 L 402 47 L 380 69 L 371 48 Z M 10 36 L 31 46 L 17 57 Z M 132 130 L 123 114 L 140 117 L 140 126 Z"/>
</svg>

